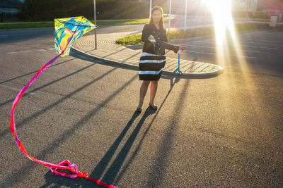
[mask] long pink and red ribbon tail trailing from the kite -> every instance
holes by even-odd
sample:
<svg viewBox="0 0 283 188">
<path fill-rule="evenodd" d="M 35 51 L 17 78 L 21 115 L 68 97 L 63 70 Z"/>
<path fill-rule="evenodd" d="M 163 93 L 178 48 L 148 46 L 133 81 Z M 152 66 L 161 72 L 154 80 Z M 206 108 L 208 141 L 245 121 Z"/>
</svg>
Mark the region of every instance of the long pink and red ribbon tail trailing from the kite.
<svg viewBox="0 0 283 188">
<path fill-rule="evenodd" d="M 79 18 L 81 18 L 81 17 L 79 17 Z M 76 20 L 76 19 L 73 18 L 73 20 Z M 83 18 L 81 18 L 81 20 L 83 20 Z M 81 23 L 81 21 L 80 21 L 80 23 Z M 68 24 L 70 24 L 70 23 L 68 23 Z M 18 134 L 17 134 L 17 131 L 16 131 L 16 124 L 15 124 L 15 115 L 14 115 L 14 110 L 16 108 L 16 105 L 18 104 L 18 101 L 20 101 L 21 96 L 23 96 L 25 91 L 37 79 L 37 77 L 39 77 L 43 72 L 45 72 L 45 70 L 47 68 L 49 68 L 50 65 L 52 65 L 52 63 L 54 63 L 54 61 L 57 60 L 57 58 L 59 58 L 60 56 L 64 56 L 65 54 L 69 54 L 69 46 L 71 46 L 71 45 L 69 45 L 69 43 L 70 42 L 72 43 L 72 42 L 74 42 L 74 39 L 79 38 L 79 37 L 74 36 L 77 33 L 76 30 L 72 31 L 72 35 L 69 36 L 68 39 L 67 39 L 67 44 L 64 44 L 64 48 L 60 49 L 60 53 L 58 53 L 59 55 L 52 58 L 48 63 L 46 63 L 42 68 L 40 68 L 40 70 L 37 71 L 37 73 L 33 76 L 33 78 L 23 87 L 23 89 L 21 89 L 21 91 L 16 96 L 16 99 L 13 101 L 13 106 L 12 106 L 12 111 L 11 111 L 10 130 L 11 130 L 13 136 L 16 138 L 16 143 L 18 145 L 18 148 L 25 154 L 25 156 L 30 158 L 30 160 L 32 160 L 32 161 L 35 161 L 37 163 L 40 163 L 42 165 L 50 167 L 50 170 L 52 171 L 52 173 L 57 174 L 57 175 L 61 175 L 61 176 L 64 176 L 64 177 L 70 177 L 72 179 L 75 179 L 76 177 L 83 177 L 83 178 L 86 178 L 87 180 L 91 180 L 92 182 L 96 182 L 97 184 L 102 185 L 104 187 L 116 188 L 115 186 L 113 186 L 111 184 L 106 184 L 104 182 L 101 182 L 100 180 L 96 180 L 96 179 L 93 179 L 92 177 L 88 177 L 88 173 L 81 173 L 77 169 L 76 164 L 71 164 L 68 160 L 62 161 L 61 163 L 58 163 L 57 165 L 52 164 L 52 163 L 47 163 L 45 161 L 40 161 L 37 158 L 30 156 L 28 154 L 28 152 L 25 151 L 25 147 L 23 146 L 20 139 L 18 139 Z M 68 30 L 68 31 L 70 31 L 70 30 Z M 55 31 L 55 33 L 56 33 L 56 31 Z M 82 33 L 81 33 L 81 35 L 82 35 Z M 60 35 L 59 37 L 62 37 L 62 35 Z M 68 51 L 66 51 L 66 50 L 68 50 Z M 70 170 L 71 173 L 74 173 L 74 174 L 69 175 L 67 173 L 60 173 L 59 171 L 57 171 L 57 169 Z"/>
</svg>

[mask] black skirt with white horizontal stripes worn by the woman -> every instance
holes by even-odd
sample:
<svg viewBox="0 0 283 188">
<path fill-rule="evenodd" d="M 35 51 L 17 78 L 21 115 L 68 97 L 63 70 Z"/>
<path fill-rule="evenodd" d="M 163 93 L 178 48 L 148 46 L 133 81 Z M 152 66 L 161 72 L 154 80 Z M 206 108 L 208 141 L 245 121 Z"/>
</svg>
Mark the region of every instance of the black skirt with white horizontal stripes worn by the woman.
<svg viewBox="0 0 283 188">
<path fill-rule="evenodd" d="M 165 63 L 165 55 L 143 52 L 139 58 L 139 80 L 159 80 Z"/>
</svg>

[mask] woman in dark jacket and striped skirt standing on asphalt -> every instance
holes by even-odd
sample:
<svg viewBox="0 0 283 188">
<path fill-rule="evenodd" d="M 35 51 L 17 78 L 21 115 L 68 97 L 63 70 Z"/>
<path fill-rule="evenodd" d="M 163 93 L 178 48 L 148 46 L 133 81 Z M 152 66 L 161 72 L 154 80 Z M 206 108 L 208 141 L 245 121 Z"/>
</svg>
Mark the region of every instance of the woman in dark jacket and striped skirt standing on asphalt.
<svg viewBox="0 0 283 188">
<path fill-rule="evenodd" d="M 165 49 L 178 50 L 186 49 L 183 46 L 174 46 L 168 44 L 166 29 L 163 23 L 163 10 L 159 6 L 155 6 L 151 10 L 151 19 L 149 24 L 144 25 L 141 40 L 144 42 L 141 58 L 139 59 L 139 80 L 143 80 L 139 92 L 139 106 L 137 111 L 141 112 L 141 106 L 144 102 L 147 88 L 151 83 L 151 93 L 149 106 L 157 110 L 154 104 L 154 98 L 158 86 L 158 80 L 161 77 L 163 68 L 166 63 Z"/>
</svg>

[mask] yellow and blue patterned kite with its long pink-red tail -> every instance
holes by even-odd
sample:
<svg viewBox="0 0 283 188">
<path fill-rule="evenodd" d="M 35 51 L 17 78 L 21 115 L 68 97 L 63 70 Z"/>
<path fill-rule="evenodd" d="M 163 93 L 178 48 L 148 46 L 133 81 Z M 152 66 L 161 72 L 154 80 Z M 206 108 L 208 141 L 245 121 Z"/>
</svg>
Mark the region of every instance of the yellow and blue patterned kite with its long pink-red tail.
<svg viewBox="0 0 283 188">
<path fill-rule="evenodd" d="M 97 184 L 100 184 L 104 187 L 110 187 L 115 188 L 115 186 L 111 184 L 106 184 L 104 182 L 100 182 L 100 180 L 93 179 L 92 177 L 88 177 L 88 173 L 81 173 L 75 164 L 71 164 L 68 160 L 62 161 L 61 163 L 55 165 L 52 163 L 47 163 L 45 161 L 40 161 L 37 158 L 33 158 L 33 156 L 28 155 L 28 152 L 25 151 L 25 148 L 21 141 L 18 139 L 18 134 L 16 132 L 16 125 L 15 125 L 15 118 L 14 118 L 14 110 L 16 105 L 18 104 L 18 101 L 20 101 L 21 96 L 25 93 L 25 91 L 30 87 L 30 84 L 32 84 L 37 77 L 39 77 L 54 61 L 59 58 L 59 56 L 64 57 L 69 55 L 69 51 L 71 48 L 71 44 L 73 44 L 77 39 L 79 39 L 83 34 L 86 34 L 87 32 L 93 30 L 96 28 L 96 25 L 93 25 L 89 20 L 86 18 L 80 16 L 80 17 L 74 17 L 74 18 L 61 18 L 61 19 L 55 19 L 55 49 L 57 51 L 58 56 L 55 56 L 52 58 L 48 63 L 46 63 L 40 70 L 37 71 L 37 73 L 33 76 L 33 78 L 21 89 L 21 92 L 18 93 L 18 96 L 16 96 L 16 99 L 13 101 L 13 107 L 11 111 L 11 125 L 10 129 L 13 134 L 13 136 L 16 138 L 16 143 L 18 144 L 18 148 L 27 156 L 30 158 L 30 160 L 35 161 L 37 163 L 40 163 L 42 165 L 46 165 L 50 167 L 50 170 L 52 173 L 57 175 L 62 175 L 64 177 L 70 177 L 70 178 L 76 178 L 76 177 L 83 177 L 88 180 L 91 180 L 93 182 L 96 182 Z M 66 174 L 66 173 L 60 173 L 57 171 L 57 169 L 64 169 L 64 170 L 70 170 L 73 174 Z"/>
</svg>

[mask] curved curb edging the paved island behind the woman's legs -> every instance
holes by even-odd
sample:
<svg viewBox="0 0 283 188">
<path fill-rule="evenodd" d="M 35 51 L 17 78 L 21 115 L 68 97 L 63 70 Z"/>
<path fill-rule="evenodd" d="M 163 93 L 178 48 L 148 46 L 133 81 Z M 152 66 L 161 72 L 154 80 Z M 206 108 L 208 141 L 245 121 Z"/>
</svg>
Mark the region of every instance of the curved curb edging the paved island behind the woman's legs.
<svg viewBox="0 0 283 188">
<path fill-rule="evenodd" d="M 119 61 L 110 61 L 110 60 L 107 60 L 107 59 L 104 59 L 104 58 L 99 58 L 97 56 L 93 56 L 93 55 L 88 54 L 86 52 L 80 51 L 79 49 L 76 49 L 74 47 L 71 47 L 71 49 L 76 54 L 80 54 L 82 56 L 86 56 L 88 58 L 92 58 L 92 59 L 97 60 L 97 61 L 103 61 L 105 63 L 108 63 L 109 65 L 120 65 L 122 67 L 129 68 L 131 70 L 138 70 L 138 68 L 139 68 L 139 66 L 137 66 L 137 65 L 132 65 L 132 64 L 129 64 L 129 63 L 122 63 L 122 62 L 119 62 Z M 173 76 L 178 75 L 178 76 L 182 76 L 182 77 L 214 77 L 216 75 L 220 75 L 223 72 L 224 72 L 223 68 L 219 66 L 219 70 L 216 70 L 216 71 L 211 72 L 211 73 L 182 73 L 182 74 L 178 74 L 178 73 L 173 73 L 173 72 L 168 71 L 168 70 L 163 70 L 163 75 L 173 75 Z"/>
</svg>

